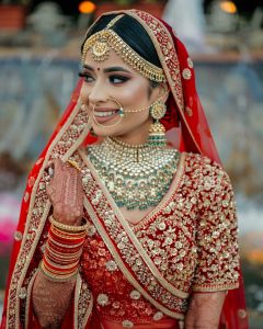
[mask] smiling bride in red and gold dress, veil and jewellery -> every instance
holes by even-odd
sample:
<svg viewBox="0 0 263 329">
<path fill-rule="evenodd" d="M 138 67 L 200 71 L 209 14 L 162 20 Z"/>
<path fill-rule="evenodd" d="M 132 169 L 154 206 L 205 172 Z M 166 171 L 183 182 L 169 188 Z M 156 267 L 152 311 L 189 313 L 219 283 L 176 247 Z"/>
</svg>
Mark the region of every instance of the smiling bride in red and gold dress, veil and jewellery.
<svg viewBox="0 0 263 329">
<path fill-rule="evenodd" d="M 248 328 L 233 192 L 185 47 L 130 10 L 81 52 L 30 173 L 1 328 Z"/>
</svg>

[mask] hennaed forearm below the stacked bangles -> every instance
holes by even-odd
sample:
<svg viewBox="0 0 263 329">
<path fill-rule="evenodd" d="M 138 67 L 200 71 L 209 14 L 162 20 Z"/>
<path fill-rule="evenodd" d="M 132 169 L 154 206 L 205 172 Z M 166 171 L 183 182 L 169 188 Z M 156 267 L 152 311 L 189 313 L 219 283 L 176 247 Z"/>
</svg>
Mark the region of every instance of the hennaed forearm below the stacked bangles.
<svg viewBox="0 0 263 329">
<path fill-rule="evenodd" d="M 76 279 L 57 283 L 49 281 L 41 271 L 33 287 L 33 307 L 42 328 L 60 328 L 71 304 Z"/>
</svg>

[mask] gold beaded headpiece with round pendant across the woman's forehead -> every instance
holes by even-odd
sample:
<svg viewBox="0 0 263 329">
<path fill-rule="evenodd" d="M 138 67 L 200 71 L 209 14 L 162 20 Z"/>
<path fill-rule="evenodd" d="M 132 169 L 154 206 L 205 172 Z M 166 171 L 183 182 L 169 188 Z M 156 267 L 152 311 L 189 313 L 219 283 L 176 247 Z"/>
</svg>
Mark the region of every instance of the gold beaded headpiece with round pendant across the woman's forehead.
<svg viewBox="0 0 263 329">
<path fill-rule="evenodd" d="M 141 56 L 139 56 L 129 45 L 127 45 L 111 27 L 122 19 L 123 14 L 115 16 L 104 30 L 91 35 L 83 45 L 82 50 L 82 64 L 88 50 L 91 48 L 91 54 L 94 60 L 102 61 L 105 60 L 111 48 L 119 55 L 125 63 L 132 66 L 135 70 L 141 73 L 144 77 L 156 81 L 164 82 L 165 75 L 163 69 L 149 63 Z"/>
</svg>

